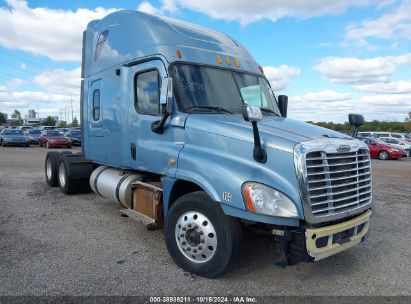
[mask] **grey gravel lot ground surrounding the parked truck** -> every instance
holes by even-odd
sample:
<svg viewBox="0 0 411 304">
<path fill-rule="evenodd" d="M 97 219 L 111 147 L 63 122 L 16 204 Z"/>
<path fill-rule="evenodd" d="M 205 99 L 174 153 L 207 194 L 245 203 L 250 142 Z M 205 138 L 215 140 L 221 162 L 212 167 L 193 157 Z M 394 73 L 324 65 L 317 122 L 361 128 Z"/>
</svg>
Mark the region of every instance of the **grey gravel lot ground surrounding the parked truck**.
<svg viewBox="0 0 411 304">
<path fill-rule="evenodd" d="M 246 237 L 234 269 L 179 269 L 163 231 L 147 231 L 95 194 L 49 188 L 47 150 L 0 147 L 0 295 L 411 295 L 411 159 L 373 161 L 369 239 L 286 269 L 270 239 Z"/>
</svg>

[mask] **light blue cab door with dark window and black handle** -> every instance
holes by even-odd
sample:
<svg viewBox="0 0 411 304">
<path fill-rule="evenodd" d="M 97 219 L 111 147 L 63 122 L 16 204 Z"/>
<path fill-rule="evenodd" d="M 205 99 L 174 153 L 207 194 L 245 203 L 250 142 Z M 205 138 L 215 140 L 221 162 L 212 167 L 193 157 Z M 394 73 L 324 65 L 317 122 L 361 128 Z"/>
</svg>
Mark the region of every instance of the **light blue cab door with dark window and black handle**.
<svg viewBox="0 0 411 304">
<path fill-rule="evenodd" d="M 152 131 L 154 122 L 162 118 L 160 88 L 168 77 L 164 63 L 152 60 L 131 67 L 124 67 L 127 78 L 128 145 L 126 157 L 130 167 L 165 175 L 174 170 L 182 145 L 176 141 L 180 127 L 170 124 L 170 118 L 162 134 Z M 170 172 L 168 172 L 170 174 Z"/>
</svg>

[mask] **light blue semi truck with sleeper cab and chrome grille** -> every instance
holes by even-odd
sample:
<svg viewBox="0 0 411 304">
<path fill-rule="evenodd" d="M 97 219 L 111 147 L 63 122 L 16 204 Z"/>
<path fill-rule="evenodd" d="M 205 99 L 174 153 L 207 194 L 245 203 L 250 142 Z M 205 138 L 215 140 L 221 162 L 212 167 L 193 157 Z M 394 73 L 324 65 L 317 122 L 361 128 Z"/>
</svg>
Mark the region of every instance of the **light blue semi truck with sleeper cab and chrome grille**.
<svg viewBox="0 0 411 304">
<path fill-rule="evenodd" d="M 50 152 L 46 179 L 91 189 L 163 227 L 183 269 L 223 273 L 245 228 L 272 235 L 277 265 L 359 244 L 372 215 L 367 146 L 287 118 L 262 68 L 229 36 L 135 11 L 83 34 L 82 154 Z M 350 121 L 361 124 L 361 117 Z"/>
</svg>

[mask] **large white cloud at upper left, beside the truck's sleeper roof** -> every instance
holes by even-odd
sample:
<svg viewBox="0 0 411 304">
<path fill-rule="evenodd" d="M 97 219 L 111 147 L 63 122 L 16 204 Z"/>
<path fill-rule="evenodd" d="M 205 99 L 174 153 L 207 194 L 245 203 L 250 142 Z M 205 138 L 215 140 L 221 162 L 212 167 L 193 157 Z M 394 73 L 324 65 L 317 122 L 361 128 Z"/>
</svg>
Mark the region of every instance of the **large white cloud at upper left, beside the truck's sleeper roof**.
<svg viewBox="0 0 411 304">
<path fill-rule="evenodd" d="M 22 0 L 6 3 L 8 7 L 0 8 L 0 45 L 55 61 L 81 61 L 82 33 L 87 23 L 116 10 L 30 8 Z"/>
</svg>

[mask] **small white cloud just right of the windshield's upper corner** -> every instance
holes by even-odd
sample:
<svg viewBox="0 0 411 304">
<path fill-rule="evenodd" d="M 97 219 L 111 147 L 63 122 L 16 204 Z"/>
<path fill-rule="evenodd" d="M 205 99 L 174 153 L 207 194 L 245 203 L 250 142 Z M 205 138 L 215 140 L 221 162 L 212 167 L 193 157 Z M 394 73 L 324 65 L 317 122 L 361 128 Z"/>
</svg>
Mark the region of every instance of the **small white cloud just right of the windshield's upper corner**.
<svg viewBox="0 0 411 304">
<path fill-rule="evenodd" d="M 301 70 L 288 65 L 280 65 L 278 67 L 266 66 L 263 67 L 264 74 L 271 84 L 272 89 L 282 91 L 290 83 L 291 78 L 300 75 Z"/>
</svg>

